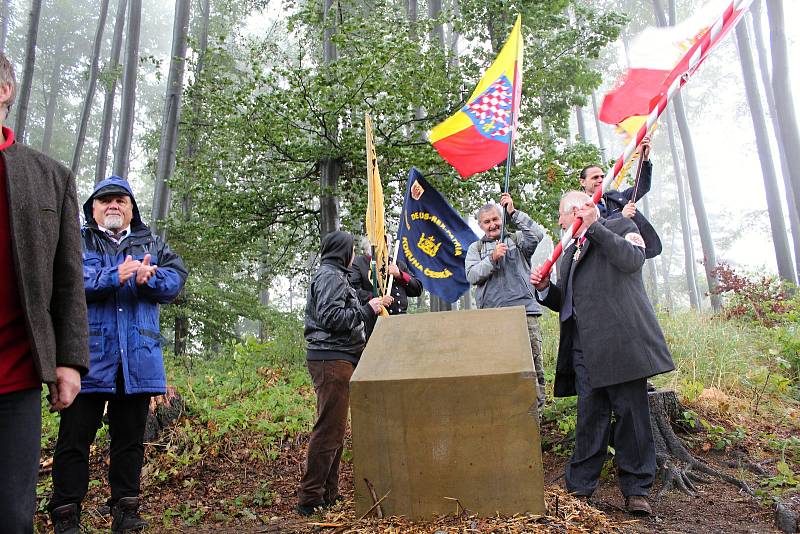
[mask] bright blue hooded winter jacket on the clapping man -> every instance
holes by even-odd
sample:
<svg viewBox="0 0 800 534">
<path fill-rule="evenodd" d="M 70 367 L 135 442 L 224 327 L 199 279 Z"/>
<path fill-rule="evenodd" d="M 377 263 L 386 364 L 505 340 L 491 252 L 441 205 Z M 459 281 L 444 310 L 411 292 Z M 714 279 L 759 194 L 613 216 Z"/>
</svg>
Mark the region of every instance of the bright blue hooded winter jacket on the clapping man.
<svg viewBox="0 0 800 534">
<path fill-rule="evenodd" d="M 98 190 L 119 185 L 131 194 L 131 233 L 115 250 L 110 238 L 97 227 L 92 201 Z M 116 393 L 117 371 L 122 369 L 125 393 L 161 394 L 167 380 L 161 353 L 159 305 L 172 302 L 186 282 L 181 258 L 142 222 L 128 182 L 112 176 L 103 180 L 83 205 L 83 284 L 89 311 L 89 373 L 81 379 L 81 393 Z M 117 266 L 125 256 L 141 261 L 151 255 L 158 270 L 147 284 L 131 277 L 119 284 Z"/>
</svg>

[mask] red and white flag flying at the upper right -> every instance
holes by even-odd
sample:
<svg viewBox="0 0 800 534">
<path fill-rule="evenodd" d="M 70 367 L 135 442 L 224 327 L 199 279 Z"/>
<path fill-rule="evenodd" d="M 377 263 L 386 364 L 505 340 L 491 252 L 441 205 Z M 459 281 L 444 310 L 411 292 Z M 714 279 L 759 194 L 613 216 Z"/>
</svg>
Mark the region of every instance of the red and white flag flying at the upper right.
<svg viewBox="0 0 800 534">
<path fill-rule="evenodd" d="M 736 25 L 747 4 L 713 0 L 676 26 L 642 31 L 631 41 L 628 72 L 603 99 L 600 120 L 620 124 L 629 117 L 648 115 L 675 78 L 697 69 Z"/>
</svg>

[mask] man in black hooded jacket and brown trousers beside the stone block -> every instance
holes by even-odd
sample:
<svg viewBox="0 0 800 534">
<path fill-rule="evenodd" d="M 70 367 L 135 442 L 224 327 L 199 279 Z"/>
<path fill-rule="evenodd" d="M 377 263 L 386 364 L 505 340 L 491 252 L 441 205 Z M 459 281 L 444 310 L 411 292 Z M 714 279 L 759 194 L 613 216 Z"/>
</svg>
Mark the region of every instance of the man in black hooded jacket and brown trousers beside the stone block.
<svg viewBox="0 0 800 534">
<path fill-rule="evenodd" d="M 347 281 L 347 269 L 355 255 L 352 235 L 326 235 L 320 255 L 321 265 L 308 288 L 304 331 L 308 371 L 317 394 L 317 422 L 298 491 L 297 511 L 305 516 L 339 498 L 350 377 L 366 345 L 366 325 L 375 322 L 382 305 L 379 297 L 360 304 Z"/>
</svg>

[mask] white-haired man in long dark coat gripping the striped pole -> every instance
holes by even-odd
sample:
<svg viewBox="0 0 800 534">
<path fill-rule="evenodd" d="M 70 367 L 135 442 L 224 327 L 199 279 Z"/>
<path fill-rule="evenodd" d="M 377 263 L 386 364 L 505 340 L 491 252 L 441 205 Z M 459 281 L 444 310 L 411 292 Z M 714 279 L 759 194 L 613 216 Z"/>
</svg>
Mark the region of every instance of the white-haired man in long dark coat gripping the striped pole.
<svg viewBox="0 0 800 534">
<path fill-rule="evenodd" d="M 597 488 L 613 412 L 620 489 L 629 512 L 647 515 L 656 471 L 647 378 L 675 366 L 645 294 L 644 241 L 636 225 L 599 218 L 591 198 L 573 191 L 561 200 L 559 224 L 569 228 L 576 217 L 583 224 L 561 257 L 558 284 L 538 269 L 531 274 L 537 299 L 559 313 L 554 394 L 578 395 L 567 490 L 588 498 Z"/>
</svg>

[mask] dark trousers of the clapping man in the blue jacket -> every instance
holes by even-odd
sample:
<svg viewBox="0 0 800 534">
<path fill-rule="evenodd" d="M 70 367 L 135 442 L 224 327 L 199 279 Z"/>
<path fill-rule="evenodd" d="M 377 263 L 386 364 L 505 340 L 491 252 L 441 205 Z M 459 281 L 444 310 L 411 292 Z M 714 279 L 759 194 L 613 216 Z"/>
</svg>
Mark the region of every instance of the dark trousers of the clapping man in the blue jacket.
<svg viewBox="0 0 800 534">
<path fill-rule="evenodd" d="M 58 441 L 53 454 L 51 511 L 72 503 L 80 507 L 86 496 L 89 489 L 89 446 L 102 424 L 106 402 L 111 436 L 109 505 L 113 506 L 123 497 L 139 496 L 139 480 L 144 463 L 144 427 L 150 395 L 82 393 L 69 408 L 61 412 Z"/>
</svg>

